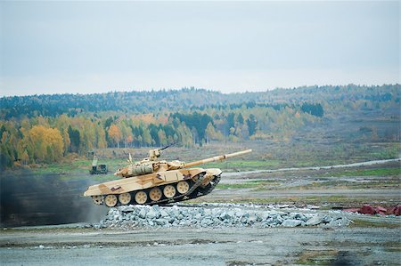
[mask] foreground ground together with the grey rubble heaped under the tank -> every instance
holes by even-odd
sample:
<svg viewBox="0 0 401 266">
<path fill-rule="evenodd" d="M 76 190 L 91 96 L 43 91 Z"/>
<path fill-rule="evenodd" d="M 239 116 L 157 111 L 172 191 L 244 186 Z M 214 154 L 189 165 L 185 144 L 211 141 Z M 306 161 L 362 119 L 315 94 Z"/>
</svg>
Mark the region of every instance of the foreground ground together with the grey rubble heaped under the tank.
<svg viewBox="0 0 401 266">
<path fill-rule="evenodd" d="M 400 222 L 313 207 L 124 206 L 101 222 L 3 229 L 0 264 L 399 265 Z"/>
</svg>

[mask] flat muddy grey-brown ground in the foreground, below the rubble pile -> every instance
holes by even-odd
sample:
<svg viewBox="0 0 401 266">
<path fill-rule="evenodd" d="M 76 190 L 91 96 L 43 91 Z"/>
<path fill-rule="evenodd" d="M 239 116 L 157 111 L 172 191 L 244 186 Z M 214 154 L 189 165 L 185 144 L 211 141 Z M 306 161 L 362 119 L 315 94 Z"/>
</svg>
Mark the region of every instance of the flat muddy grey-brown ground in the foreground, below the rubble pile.
<svg viewBox="0 0 401 266">
<path fill-rule="evenodd" d="M 2 265 L 399 265 L 386 227 L 2 230 Z"/>
</svg>

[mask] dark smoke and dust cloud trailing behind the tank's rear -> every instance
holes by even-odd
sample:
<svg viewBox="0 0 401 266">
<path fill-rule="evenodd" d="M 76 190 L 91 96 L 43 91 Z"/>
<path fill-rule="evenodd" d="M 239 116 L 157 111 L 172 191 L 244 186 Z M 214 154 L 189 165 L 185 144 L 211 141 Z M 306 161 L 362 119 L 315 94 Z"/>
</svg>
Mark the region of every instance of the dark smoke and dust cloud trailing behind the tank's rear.
<svg viewBox="0 0 401 266">
<path fill-rule="evenodd" d="M 107 208 L 94 206 L 90 197 L 82 197 L 93 183 L 89 175 L 64 181 L 58 174 L 34 174 L 29 170 L 2 173 L 0 226 L 98 222 Z"/>
</svg>

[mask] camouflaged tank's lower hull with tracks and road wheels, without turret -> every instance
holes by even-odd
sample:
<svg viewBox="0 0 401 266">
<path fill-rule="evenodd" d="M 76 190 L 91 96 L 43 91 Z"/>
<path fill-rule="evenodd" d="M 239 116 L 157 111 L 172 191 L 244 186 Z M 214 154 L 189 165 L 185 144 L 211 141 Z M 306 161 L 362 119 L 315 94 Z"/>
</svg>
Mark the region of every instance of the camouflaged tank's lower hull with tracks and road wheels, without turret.
<svg viewBox="0 0 401 266">
<path fill-rule="evenodd" d="M 189 168 L 143 174 L 90 186 L 84 196 L 93 197 L 97 205 L 110 207 L 163 205 L 209 194 L 216 187 L 221 173 L 218 168 Z"/>
</svg>

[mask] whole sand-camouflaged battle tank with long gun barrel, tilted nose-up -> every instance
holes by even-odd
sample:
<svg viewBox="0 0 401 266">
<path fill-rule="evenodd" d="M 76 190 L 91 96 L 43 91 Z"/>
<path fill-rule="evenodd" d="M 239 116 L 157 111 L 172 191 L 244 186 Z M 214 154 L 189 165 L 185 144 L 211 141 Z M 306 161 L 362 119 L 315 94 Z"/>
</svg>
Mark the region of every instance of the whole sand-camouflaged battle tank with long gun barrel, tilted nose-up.
<svg viewBox="0 0 401 266">
<path fill-rule="evenodd" d="M 109 207 L 135 205 L 165 205 L 208 195 L 216 188 L 222 171 L 218 168 L 190 168 L 196 165 L 241 156 L 252 150 L 242 150 L 217 157 L 185 163 L 159 160 L 163 149 L 151 149 L 149 157 L 133 162 L 131 154 L 124 168 L 114 175 L 119 180 L 90 186 L 84 196 L 92 197 L 94 204 Z"/>
</svg>

